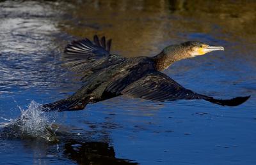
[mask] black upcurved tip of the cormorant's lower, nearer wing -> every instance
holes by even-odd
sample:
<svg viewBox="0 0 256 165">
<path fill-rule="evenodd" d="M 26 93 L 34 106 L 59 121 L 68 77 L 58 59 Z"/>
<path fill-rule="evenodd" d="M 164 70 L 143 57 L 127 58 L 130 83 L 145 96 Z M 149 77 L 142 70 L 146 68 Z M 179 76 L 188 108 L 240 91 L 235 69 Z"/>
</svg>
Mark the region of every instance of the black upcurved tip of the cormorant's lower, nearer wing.
<svg viewBox="0 0 256 165">
<path fill-rule="evenodd" d="M 199 95 L 201 99 L 209 101 L 214 104 L 219 104 L 222 106 L 237 106 L 239 104 L 243 104 L 246 100 L 250 98 L 250 96 L 245 97 L 234 97 L 232 99 L 214 99 L 214 97 Z"/>
</svg>

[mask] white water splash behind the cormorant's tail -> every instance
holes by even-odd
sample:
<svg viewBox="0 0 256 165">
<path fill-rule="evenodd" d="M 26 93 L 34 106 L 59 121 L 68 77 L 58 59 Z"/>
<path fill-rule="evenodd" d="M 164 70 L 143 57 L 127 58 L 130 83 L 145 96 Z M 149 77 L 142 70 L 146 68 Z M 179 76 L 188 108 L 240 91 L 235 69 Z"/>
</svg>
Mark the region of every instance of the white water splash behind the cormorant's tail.
<svg viewBox="0 0 256 165">
<path fill-rule="evenodd" d="M 19 107 L 20 108 L 20 107 Z M 35 138 L 40 140 L 56 142 L 56 130 L 52 129 L 49 113 L 44 113 L 40 104 L 31 101 L 27 110 L 20 108 L 20 117 L 16 119 L 6 119 L 7 123 L 1 123 L 0 137 L 5 138 Z"/>
</svg>

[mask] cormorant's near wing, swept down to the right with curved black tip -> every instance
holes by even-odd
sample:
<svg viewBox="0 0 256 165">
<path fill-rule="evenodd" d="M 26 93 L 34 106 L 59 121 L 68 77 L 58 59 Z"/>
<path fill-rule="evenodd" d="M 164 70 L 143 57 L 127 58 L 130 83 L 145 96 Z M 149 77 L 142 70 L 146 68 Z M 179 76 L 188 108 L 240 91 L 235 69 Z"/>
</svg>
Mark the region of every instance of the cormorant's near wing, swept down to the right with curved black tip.
<svg viewBox="0 0 256 165">
<path fill-rule="evenodd" d="M 177 99 L 204 99 L 222 106 L 237 106 L 244 103 L 250 96 L 235 97 L 233 99 L 214 99 L 213 97 L 196 94 L 192 90 L 185 89 L 172 78 L 155 71 L 128 85 L 122 94 L 131 97 L 140 97 L 152 101 L 174 101 Z"/>
</svg>

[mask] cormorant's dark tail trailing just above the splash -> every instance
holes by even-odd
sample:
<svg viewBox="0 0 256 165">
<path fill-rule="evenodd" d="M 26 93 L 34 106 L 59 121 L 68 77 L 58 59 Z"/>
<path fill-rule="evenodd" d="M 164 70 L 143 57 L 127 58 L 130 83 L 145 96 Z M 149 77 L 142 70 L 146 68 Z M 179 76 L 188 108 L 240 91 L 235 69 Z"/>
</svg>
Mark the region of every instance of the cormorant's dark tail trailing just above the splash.
<svg viewBox="0 0 256 165">
<path fill-rule="evenodd" d="M 68 97 L 49 104 L 42 105 L 42 111 L 77 111 L 83 110 L 88 104 L 84 99 Z"/>
</svg>

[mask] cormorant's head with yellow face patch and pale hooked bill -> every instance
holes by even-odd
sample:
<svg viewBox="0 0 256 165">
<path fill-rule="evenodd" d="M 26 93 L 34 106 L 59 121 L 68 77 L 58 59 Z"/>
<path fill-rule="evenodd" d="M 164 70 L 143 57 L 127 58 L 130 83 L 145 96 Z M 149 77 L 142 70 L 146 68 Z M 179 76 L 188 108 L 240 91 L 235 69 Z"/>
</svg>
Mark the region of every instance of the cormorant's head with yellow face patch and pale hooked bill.
<svg viewBox="0 0 256 165">
<path fill-rule="evenodd" d="M 204 55 L 216 50 L 224 50 L 223 47 L 210 46 L 198 41 L 187 41 L 186 43 L 182 43 L 181 46 L 187 51 L 189 57 Z"/>
</svg>

